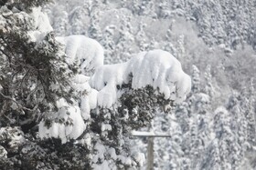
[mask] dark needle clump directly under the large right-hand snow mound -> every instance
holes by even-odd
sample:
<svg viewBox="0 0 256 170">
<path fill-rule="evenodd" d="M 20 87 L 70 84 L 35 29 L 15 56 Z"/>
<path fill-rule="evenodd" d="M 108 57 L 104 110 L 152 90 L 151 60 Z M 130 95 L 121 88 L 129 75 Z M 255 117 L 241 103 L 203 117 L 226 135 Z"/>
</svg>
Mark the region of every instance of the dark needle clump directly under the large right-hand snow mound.
<svg viewBox="0 0 256 170">
<path fill-rule="evenodd" d="M 156 91 L 148 85 L 143 89 L 136 89 L 121 96 L 122 105 L 118 111 L 123 116 L 128 112 L 127 125 L 132 125 L 133 129 L 141 128 L 150 123 L 156 111 L 167 112 L 165 106 L 174 105 L 172 101 L 165 99 L 164 95 L 159 95 Z"/>
</svg>

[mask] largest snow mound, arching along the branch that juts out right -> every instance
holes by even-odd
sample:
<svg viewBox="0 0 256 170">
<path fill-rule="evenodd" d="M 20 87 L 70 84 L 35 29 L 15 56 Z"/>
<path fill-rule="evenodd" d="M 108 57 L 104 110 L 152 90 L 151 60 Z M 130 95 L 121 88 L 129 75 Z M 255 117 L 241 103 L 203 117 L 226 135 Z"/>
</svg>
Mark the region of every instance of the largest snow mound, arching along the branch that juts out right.
<svg viewBox="0 0 256 170">
<path fill-rule="evenodd" d="M 183 72 L 179 61 L 163 50 L 142 52 L 130 61 L 102 65 L 91 77 L 91 87 L 99 91 L 98 105 L 111 107 L 118 98 L 118 88 L 132 81 L 132 88 L 152 85 L 165 99 L 175 103 L 185 100 L 191 89 L 190 76 Z"/>
</svg>

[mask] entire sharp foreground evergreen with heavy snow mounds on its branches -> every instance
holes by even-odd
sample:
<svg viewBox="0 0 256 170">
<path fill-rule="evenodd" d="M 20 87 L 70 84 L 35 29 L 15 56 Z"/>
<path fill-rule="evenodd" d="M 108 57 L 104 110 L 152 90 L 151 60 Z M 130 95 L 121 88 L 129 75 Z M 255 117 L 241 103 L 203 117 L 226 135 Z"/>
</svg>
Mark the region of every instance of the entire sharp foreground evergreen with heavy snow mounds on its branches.
<svg viewBox="0 0 256 170">
<path fill-rule="evenodd" d="M 190 77 L 163 50 L 103 65 L 99 43 L 55 37 L 41 3 L 32 2 L 0 8 L 0 167 L 143 165 L 130 146 L 132 130 L 185 100 Z"/>
</svg>

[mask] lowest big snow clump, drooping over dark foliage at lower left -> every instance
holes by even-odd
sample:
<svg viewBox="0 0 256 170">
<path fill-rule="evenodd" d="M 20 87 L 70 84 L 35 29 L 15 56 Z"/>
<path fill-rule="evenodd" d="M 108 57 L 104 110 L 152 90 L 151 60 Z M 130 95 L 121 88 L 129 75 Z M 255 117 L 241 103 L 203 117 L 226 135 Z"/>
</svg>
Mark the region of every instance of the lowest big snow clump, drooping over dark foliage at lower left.
<svg viewBox="0 0 256 170">
<path fill-rule="evenodd" d="M 68 105 L 64 99 L 59 100 L 58 107 L 58 113 L 48 116 L 51 121 L 49 128 L 45 126 L 45 121 L 40 122 L 39 137 L 59 138 L 62 143 L 66 143 L 69 139 L 77 139 L 86 128 L 80 114 L 80 107 Z"/>
</svg>

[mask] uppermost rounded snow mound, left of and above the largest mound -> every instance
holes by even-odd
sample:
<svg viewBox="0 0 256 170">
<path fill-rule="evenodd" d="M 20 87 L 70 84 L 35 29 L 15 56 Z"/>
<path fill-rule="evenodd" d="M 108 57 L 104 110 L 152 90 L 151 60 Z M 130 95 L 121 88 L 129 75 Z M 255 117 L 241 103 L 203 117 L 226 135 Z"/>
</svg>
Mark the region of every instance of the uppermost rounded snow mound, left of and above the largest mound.
<svg viewBox="0 0 256 170">
<path fill-rule="evenodd" d="M 69 61 L 79 62 L 82 74 L 92 73 L 95 68 L 103 65 L 104 50 L 97 41 L 84 35 L 69 35 L 56 39 L 64 45 Z"/>
</svg>

